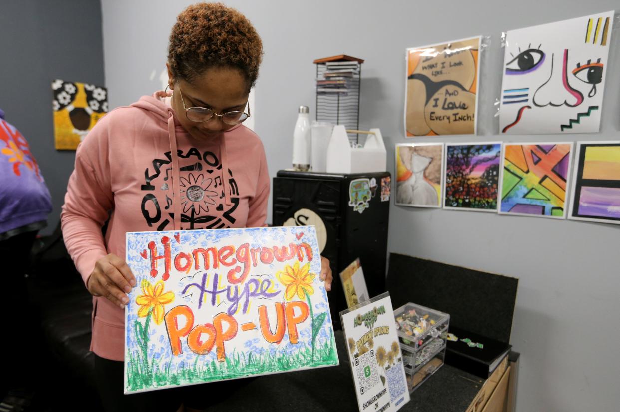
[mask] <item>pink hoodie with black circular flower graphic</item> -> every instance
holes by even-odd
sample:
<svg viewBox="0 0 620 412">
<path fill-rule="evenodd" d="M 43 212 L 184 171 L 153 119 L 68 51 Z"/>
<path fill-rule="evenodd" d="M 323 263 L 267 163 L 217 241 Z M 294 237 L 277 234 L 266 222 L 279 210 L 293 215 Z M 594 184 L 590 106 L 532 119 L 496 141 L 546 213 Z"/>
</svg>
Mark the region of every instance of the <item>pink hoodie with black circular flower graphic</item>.
<svg viewBox="0 0 620 412">
<path fill-rule="evenodd" d="M 238 126 L 197 141 L 154 96 L 105 115 L 78 147 L 61 221 L 85 283 L 100 258 L 125 258 L 126 232 L 265 225 L 269 176 L 258 136 Z M 94 297 L 91 350 L 122 361 L 124 325 L 120 307 Z"/>
</svg>

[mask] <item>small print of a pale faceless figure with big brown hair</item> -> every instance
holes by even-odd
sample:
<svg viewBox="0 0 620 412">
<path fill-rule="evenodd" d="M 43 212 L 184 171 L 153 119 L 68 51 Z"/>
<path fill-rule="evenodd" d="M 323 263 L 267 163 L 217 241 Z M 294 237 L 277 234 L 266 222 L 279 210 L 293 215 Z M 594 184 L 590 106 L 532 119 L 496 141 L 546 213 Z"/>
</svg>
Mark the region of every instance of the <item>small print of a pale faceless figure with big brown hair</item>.
<svg viewBox="0 0 620 412">
<path fill-rule="evenodd" d="M 441 207 L 443 144 L 396 145 L 396 204 Z"/>
</svg>

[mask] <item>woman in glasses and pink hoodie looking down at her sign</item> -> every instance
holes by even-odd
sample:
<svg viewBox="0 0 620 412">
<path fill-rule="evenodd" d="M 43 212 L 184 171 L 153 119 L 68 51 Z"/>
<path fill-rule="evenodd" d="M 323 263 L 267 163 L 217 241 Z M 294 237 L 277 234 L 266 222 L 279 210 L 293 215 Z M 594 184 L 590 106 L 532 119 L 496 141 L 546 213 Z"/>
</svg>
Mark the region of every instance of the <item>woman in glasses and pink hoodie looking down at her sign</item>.
<svg viewBox="0 0 620 412">
<path fill-rule="evenodd" d="M 136 286 L 123 256 L 126 232 L 265 226 L 265 151 L 242 125 L 261 59 L 262 42 L 246 17 L 221 4 L 190 6 L 170 34 L 170 91 L 108 113 L 78 147 L 63 235 L 94 296 L 91 349 L 107 410 L 201 409 L 214 401 L 208 394 L 226 398 L 229 387 L 239 386 L 123 396 L 123 308 Z M 162 267 L 159 258 L 154 265 Z M 321 278 L 329 290 L 325 259 Z"/>
</svg>

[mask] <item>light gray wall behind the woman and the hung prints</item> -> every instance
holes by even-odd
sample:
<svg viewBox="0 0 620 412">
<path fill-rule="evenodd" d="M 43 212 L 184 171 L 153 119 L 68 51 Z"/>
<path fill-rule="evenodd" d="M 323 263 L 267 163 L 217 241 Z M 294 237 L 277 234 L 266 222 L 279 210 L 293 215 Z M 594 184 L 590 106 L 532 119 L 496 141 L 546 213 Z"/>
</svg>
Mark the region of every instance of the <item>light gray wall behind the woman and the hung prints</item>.
<svg viewBox="0 0 620 412">
<path fill-rule="evenodd" d="M 314 58 L 341 53 L 366 59 L 361 127 L 379 127 L 389 170 L 404 142 L 404 51 L 407 47 L 492 35 L 490 72 L 480 110 L 494 110 L 500 89 L 500 33 L 618 7 L 617 0 L 518 2 L 227 1 L 254 23 L 265 45 L 256 87 L 255 130 L 269 170 L 290 166 L 296 108 L 314 113 Z M 189 1 L 102 0 L 105 77 L 112 107 L 159 88 L 169 30 Z M 612 47 L 618 48 L 618 38 Z M 618 139 L 620 53 L 608 67 L 601 133 L 544 136 L 550 141 Z M 151 77 L 153 79 L 151 79 Z M 484 113 L 482 113 L 484 114 Z M 480 141 L 497 140 L 482 116 Z M 495 126 L 495 128 L 494 128 Z M 492 131 L 494 130 L 494 131 Z M 510 136 L 531 141 L 533 136 Z M 471 141 L 434 138 L 419 141 Z M 520 411 L 612 411 L 620 394 L 620 227 L 392 205 L 389 251 L 520 278 L 511 343 L 521 352 Z M 346 384 L 346 383 L 345 383 Z M 326 388 L 333 390 L 333 388 Z M 446 393 L 446 396 L 450 396 Z M 415 393 L 414 393 L 415 399 Z"/>
</svg>

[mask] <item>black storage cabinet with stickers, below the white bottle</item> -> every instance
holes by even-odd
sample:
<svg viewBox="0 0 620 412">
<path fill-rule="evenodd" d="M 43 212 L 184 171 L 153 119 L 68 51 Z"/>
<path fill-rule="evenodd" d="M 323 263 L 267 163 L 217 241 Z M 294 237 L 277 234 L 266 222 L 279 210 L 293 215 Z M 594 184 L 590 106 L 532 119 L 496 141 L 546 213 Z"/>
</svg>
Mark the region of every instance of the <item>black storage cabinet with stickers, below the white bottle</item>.
<svg viewBox="0 0 620 412">
<path fill-rule="evenodd" d="M 382 201 L 381 182 L 386 177 L 390 177 L 389 172 L 339 174 L 280 170 L 273 178 L 273 226 L 283 226 L 299 209 L 313 211 L 325 224 L 327 242 L 321 255 L 329 259 L 334 274 L 328 297 L 335 328 L 340 328 L 339 312 L 347 309 L 339 274 L 356 258 L 360 258 L 370 296 L 385 291 L 390 201 L 385 196 Z M 359 213 L 350 204 L 363 201 L 355 199 L 355 195 L 366 197 L 368 191 L 353 190 L 351 182 L 365 178 L 370 182 L 374 178 L 376 185 L 370 187 L 368 207 Z M 299 216 L 296 223 L 306 224 Z"/>
</svg>

